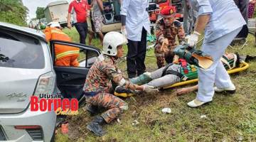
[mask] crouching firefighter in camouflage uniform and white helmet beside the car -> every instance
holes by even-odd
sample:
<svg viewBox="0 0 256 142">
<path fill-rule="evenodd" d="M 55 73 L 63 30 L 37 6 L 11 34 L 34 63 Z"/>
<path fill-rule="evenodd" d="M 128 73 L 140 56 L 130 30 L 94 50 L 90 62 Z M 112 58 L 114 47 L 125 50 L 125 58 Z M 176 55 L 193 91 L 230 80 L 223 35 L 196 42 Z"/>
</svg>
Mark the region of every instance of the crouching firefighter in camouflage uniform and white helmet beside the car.
<svg viewBox="0 0 256 142">
<path fill-rule="evenodd" d="M 122 111 L 128 109 L 126 102 L 110 93 L 112 82 L 126 89 L 142 90 L 148 93 L 157 92 L 157 89 L 132 84 L 122 77 L 122 72 L 117 69 L 116 62 L 123 56 L 122 45 L 124 44 L 127 44 L 127 39 L 121 33 L 114 31 L 107 33 L 103 39 L 103 54 L 92 65 L 85 80 L 83 87 L 87 102 L 85 109 L 91 114 L 95 114 L 95 107 L 107 109 L 100 116 L 95 116 L 87 125 L 87 129 L 96 136 L 103 136 L 106 133 L 102 129 L 103 124 L 109 124 Z"/>
</svg>

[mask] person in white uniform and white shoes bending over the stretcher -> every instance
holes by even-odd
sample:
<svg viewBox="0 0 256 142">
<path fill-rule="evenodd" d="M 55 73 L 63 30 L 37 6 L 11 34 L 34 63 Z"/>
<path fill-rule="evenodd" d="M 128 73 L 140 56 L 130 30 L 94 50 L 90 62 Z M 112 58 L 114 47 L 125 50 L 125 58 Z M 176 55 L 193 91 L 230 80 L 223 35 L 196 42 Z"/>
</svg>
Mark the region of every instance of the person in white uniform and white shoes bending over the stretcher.
<svg viewBox="0 0 256 142">
<path fill-rule="evenodd" d="M 198 11 L 198 16 L 193 34 L 188 38 L 188 44 L 196 45 L 198 36 L 205 29 L 201 50 L 214 61 L 207 70 L 198 70 L 198 93 L 196 99 L 188 102 L 188 107 L 199 107 L 211 102 L 214 92 L 235 91 L 235 85 L 220 58 L 246 23 L 233 0 L 189 1 L 192 9 Z"/>
</svg>

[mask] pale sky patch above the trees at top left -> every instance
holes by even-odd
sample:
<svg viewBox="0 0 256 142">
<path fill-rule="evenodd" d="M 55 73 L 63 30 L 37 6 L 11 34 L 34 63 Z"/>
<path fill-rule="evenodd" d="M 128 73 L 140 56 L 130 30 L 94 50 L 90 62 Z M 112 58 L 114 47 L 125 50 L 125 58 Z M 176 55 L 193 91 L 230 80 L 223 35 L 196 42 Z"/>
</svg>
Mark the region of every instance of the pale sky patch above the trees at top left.
<svg viewBox="0 0 256 142">
<path fill-rule="evenodd" d="M 46 7 L 50 2 L 53 1 L 61 1 L 61 0 L 22 0 L 24 6 L 28 8 L 28 21 L 30 21 L 31 18 L 36 18 L 36 8 L 37 7 Z M 68 3 L 71 0 L 66 0 Z"/>
</svg>

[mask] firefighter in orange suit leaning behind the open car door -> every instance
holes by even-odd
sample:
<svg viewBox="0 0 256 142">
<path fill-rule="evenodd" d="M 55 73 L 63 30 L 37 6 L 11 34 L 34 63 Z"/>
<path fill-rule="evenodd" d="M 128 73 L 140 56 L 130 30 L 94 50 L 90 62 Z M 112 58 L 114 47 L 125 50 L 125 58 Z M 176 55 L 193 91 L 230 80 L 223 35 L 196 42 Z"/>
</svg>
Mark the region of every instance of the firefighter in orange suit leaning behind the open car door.
<svg viewBox="0 0 256 142">
<path fill-rule="evenodd" d="M 46 40 L 71 41 L 71 38 L 61 31 L 58 22 L 48 23 L 46 30 Z M 73 48 L 68 45 L 55 45 L 55 65 L 57 66 L 75 66 L 78 67 L 79 48 Z"/>
</svg>

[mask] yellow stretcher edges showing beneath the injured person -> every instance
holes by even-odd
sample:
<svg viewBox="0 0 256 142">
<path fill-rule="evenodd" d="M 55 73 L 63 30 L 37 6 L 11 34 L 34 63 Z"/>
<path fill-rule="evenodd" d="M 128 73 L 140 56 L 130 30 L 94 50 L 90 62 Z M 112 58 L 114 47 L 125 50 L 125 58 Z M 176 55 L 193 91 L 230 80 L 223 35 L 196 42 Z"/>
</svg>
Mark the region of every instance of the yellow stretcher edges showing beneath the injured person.
<svg viewBox="0 0 256 142">
<path fill-rule="evenodd" d="M 235 72 L 242 72 L 243 70 L 246 70 L 249 67 L 249 64 L 243 60 L 240 61 L 240 66 L 239 67 L 235 67 L 232 70 L 228 70 L 228 74 L 233 74 Z M 187 80 L 187 81 L 183 81 L 183 82 L 178 82 L 175 84 L 172 84 L 168 87 L 163 87 L 163 89 L 169 89 L 169 88 L 173 88 L 173 87 L 178 87 L 178 86 L 182 86 L 185 84 L 191 84 L 194 82 L 198 82 L 198 79 L 194 79 L 194 80 Z"/>
</svg>

